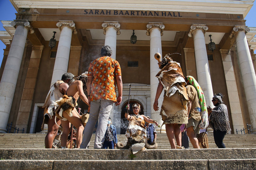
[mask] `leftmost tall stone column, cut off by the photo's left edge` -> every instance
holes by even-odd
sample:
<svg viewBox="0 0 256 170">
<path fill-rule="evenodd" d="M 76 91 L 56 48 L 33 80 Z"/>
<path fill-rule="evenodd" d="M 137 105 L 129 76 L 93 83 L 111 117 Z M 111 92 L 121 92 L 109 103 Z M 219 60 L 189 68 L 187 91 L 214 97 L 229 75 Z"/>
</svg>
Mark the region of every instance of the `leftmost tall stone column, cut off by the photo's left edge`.
<svg viewBox="0 0 256 170">
<path fill-rule="evenodd" d="M 28 20 L 14 20 L 11 25 L 16 27 L 16 30 L 0 82 L 0 133 L 6 133 L 28 30 L 34 33 Z"/>
</svg>

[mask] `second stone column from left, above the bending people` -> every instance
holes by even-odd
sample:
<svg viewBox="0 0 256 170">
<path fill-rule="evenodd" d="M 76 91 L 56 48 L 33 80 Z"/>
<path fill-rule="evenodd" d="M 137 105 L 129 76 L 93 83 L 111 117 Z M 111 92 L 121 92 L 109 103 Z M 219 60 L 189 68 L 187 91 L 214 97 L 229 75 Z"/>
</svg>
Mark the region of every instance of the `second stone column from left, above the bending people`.
<svg viewBox="0 0 256 170">
<path fill-rule="evenodd" d="M 67 72 L 72 32 L 74 34 L 77 33 L 73 21 L 60 21 L 57 23 L 57 26 L 60 29 L 60 40 L 55 58 L 51 85 L 57 80 L 60 80 L 62 74 Z"/>
</svg>

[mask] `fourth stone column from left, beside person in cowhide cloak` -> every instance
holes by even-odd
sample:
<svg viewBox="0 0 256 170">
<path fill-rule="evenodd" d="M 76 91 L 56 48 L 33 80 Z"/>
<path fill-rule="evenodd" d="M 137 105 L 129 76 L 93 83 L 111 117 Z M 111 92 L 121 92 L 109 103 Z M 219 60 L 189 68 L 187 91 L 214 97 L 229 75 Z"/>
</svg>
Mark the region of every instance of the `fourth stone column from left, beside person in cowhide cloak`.
<svg viewBox="0 0 256 170">
<path fill-rule="evenodd" d="M 162 55 L 162 43 L 161 36 L 163 35 L 164 25 L 163 23 L 150 22 L 147 25 L 147 35 L 150 36 L 150 99 L 151 99 L 151 119 L 156 120 L 160 125 L 162 125 L 162 117 L 160 115 L 159 109 L 157 112 L 154 110 L 153 105 L 156 98 L 156 89 L 158 86 L 158 79 L 156 74 L 160 71 L 158 62 L 156 61 L 154 55 L 160 53 Z M 158 107 L 162 106 L 164 100 L 164 91 L 161 93 L 158 99 Z M 156 127 L 157 131 L 160 131 L 160 128 Z M 165 126 L 162 127 L 162 130 L 165 131 Z"/>
</svg>

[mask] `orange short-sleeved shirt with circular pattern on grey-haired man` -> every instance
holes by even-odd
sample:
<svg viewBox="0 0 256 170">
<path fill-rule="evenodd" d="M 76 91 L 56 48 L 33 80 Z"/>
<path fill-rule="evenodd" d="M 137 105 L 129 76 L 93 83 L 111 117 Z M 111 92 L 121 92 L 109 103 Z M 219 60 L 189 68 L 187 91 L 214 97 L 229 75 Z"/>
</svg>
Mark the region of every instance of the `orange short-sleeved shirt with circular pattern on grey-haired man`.
<svg viewBox="0 0 256 170">
<path fill-rule="evenodd" d="M 92 61 L 88 69 L 88 77 L 93 77 L 90 100 L 116 102 L 116 76 L 121 76 L 121 68 L 116 60 L 103 56 Z"/>
</svg>

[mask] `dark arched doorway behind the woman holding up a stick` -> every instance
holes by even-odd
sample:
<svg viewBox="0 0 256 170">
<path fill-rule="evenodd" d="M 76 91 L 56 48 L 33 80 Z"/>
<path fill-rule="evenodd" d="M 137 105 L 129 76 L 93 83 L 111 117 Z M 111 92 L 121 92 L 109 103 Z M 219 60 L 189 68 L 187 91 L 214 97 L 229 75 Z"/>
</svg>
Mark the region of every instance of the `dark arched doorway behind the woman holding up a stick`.
<svg viewBox="0 0 256 170">
<path fill-rule="evenodd" d="M 130 101 L 129 102 L 129 105 L 130 105 L 129 115 L 133 114 L 132 105 L 135 104 L 135 103 L 139 103 L 140 104 L 140 115 L 144 115 L 143 106 L 141 105 L 140 102 L 137 102 L 137 101 Z M 126 129 L 128 127 L 128 120 L 124 117 L 124 114 L 127 112 L 127 108 L 126 108 L 127 104 L 128 104 L 128 102 L 126 102 L 123 105 L 122 111 L 121 111 L 121 127 L 120 127 L 121 129 L 120 129 L 120 134 L 125 134 Z"/>
</svg>

